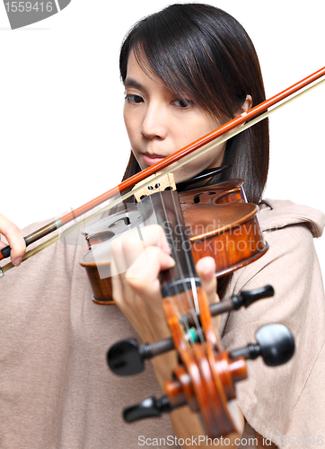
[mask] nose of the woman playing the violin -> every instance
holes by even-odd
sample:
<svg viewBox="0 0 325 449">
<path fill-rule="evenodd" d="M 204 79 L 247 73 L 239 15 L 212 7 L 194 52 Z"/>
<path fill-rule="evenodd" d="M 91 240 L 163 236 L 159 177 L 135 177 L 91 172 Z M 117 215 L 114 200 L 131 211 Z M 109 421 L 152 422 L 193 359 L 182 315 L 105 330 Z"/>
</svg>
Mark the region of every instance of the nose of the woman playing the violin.
<svg viewBox="0 0 325 449">
<path fill-rule="evenodd" d="M 141 134 L 146 138 L 158 137 L 163 140 L 167 136 L 167 129 L 167 117 L 163 107 L 159 104 L 149 105 L 145 111 Z"/>
</svg>

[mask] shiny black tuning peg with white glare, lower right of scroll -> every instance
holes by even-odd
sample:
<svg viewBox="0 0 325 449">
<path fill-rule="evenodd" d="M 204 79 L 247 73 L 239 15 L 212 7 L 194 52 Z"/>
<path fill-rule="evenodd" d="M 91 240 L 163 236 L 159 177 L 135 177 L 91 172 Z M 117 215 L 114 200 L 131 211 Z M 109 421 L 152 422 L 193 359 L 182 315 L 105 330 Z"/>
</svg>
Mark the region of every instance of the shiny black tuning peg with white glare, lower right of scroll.
<svg viewBox="0 0 325 449">
<path fill-rule="evenodd" d="M 255 337 L 258 344 L 250 343 L 245 348 L 230 352 L 233 358 L 254 360 L 261 356 L 268 366 L 283 365 L 294 355 L 294 337 L 283 324 L 266 324 L 259 328 Z"/>
</svg>

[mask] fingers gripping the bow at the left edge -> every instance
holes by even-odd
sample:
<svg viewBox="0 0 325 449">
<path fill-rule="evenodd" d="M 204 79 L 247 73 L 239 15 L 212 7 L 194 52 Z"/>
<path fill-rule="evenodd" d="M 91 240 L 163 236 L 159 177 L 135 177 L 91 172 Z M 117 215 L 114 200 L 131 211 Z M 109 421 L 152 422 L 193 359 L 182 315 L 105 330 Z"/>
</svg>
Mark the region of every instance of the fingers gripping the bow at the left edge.
<svg viewBox="0 0 325 449">
<path fill-rule="evenodd" d="M 13 223 L 8 220 L 5 216 L 0 214 L 0 233 L 4 235 L 11 247 L 11 260 L 13 265 L 18 267 L 22 262 L 22 256 L 26 251 L 26 243 L 23 240 L 22 233 L 20 229 L 13 225 Z M 3 242 L 1 242 L 0 249 L 4 248 Z"/>
</svg>

